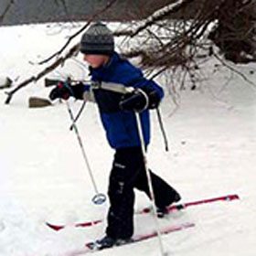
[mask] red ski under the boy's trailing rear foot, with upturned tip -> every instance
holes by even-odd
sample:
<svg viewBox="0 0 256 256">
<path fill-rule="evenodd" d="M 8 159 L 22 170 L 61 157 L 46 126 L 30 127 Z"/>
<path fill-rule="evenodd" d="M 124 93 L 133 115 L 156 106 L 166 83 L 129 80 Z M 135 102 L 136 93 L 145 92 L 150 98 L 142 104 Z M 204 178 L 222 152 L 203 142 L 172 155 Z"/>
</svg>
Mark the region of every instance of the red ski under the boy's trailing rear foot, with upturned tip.
<svg viewBox="0 0 256 256">
<path fill-rule="evenodd" d="M 190 201 L 187 203 L 172 205 L 168 208 L 168 212 L 182 210 L 185 208 L 190 208 L 190 207 L 203 205 L 203 204 L 214 203 L 214 202 L 218 202 L 218 201 L 233 201 L 233 200 L 237 200 L 237 199 L 240 199 L 240 197 L 236 194 L 233 194 L 233 195 L 227 195 L 227 196 L 222 196 L 222 197 L 211 197 L 211 198 L 206 198 L 206 199 L 201 199 L 201 200 L 195 200 L 195 201 Z M 151 211 L 152 211 L 152 208 L 148 207 L 148 208 L 143 208 L 143 209 L 137 211 L 136 214 L 147 214 Z M 103 219 L 98 219 L 98 220 L 93 220 L 93 221 L 84 221 L 84 222 L 79 222 L 79 223 L 73 223 L 73 224 L 69 224 L 69 225 L 56 225 L 56 224 L 51 224 L 49 222 L 46 222 L 46 225 L 50 229 L 59 231 L 61 229 L 65 229 L 66 227 L 87 228 L 87 227 L 97 225 L 97 224 L 101 223 L 102 221 L 103 221 Z"/>
</svg>

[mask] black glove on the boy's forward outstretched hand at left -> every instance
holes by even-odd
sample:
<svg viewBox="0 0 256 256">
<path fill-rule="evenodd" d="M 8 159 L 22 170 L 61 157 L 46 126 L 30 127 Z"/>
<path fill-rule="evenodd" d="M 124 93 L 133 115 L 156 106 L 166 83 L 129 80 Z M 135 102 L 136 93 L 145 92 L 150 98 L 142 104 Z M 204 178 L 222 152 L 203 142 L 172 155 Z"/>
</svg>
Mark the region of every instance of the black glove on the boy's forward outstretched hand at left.
<svg viewBox="0 0 256 256">
<path fill-rule="evenodd" d="M 63 99 L 67 101 L 70 96 L 73 96 L 78 100 L 82 100 L 83 91 L 84 85 L 81 82 L 70 86 L 67 82 L 59 81 L 57 87 L 50 91 L 49 99 L 51 101 L 56 99 Z"/>
</svg>

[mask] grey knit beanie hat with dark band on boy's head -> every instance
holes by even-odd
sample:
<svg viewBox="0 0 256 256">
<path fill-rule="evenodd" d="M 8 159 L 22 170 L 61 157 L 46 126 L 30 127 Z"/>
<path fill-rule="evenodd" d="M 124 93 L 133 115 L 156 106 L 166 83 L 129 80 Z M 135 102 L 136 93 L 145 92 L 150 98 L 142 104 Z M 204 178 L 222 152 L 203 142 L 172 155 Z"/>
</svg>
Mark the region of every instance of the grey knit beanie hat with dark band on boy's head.
<svg viewBox="0 0 256 256">
<path fill-rule="evenodd" d="M 92 24 L 81 37 L 80 52 L 83 54 L 112 55 L 113 50 L 112 31 L 101 22 Z"/>
</svg>

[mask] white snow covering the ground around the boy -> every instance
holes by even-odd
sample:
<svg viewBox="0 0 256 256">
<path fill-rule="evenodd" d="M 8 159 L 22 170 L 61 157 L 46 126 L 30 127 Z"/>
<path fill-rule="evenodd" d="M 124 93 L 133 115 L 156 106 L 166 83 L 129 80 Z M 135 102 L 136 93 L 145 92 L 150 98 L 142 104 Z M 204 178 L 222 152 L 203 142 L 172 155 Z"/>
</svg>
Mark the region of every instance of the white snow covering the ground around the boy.
<svg viewBox="0 0 256 256">
<path fill-rule="evenodd" d="M 30 62 L 48 57 L 63 45 L 74 27 L 56 25 L 1 27 L 1 77 L 16 83 L 42 69 Z M 80 57 L 78 57 L 80 59 Z M 30 62 L 29 62 L 30 61 Z M 229 69 L 216 68 L 210 59 L 204 66 L 208 79 L 197 91 L 182 91 L 179 108 L 165 97 L 162 112 L 170 151 L 152 112 L 153 139 L 149 165 L 181 193 L 183 201 L 238 194 L 240 200 L 189 208 L 160 225 L 194 222 L 195 228 L 163 236 L 165 250 L 176 256 L 254 256 L 256 251 L 256 98 L 255 88 Z M 255 64 L 237 67 L 256 83 Z M 254 71 L 254 73 L 251 72 Z M 87 72 L 77 61 L 53 75 Z M 223 85 L 229 80 L 229 83 Z M 160 81 L 161 82 L 161 81 Z M 28 109 L 28 97 L 46 97 L 43 80 L 31 84 L 5 105 L 0 91 L 0 255 L 67 255 L 86 241 L 103 236 L 106 225 L 55 232 L 44 224 L 73 223 L 104 218 L 108 203 L 95 206 L 90 176 L 74 133 L 69 132 L 65 103 L 44 109 Z M 69 101 L 74 112 L 81 102 Z M 174 112 L 174 113 L 173 113 Z M 106 193 L 113 151 L 106 143 L 97 110 L 88 104 L 78 122 L 97 186 Z M 150 205 L 136 193 L 135 208 Z M 154 229 L 152 216 L 135 219 L 135 233 Z M 206 253 L 207 251 L 207 253 Z M 160 255 L 158 241 L 147 240 L 95 255 Z"/>
</svg>

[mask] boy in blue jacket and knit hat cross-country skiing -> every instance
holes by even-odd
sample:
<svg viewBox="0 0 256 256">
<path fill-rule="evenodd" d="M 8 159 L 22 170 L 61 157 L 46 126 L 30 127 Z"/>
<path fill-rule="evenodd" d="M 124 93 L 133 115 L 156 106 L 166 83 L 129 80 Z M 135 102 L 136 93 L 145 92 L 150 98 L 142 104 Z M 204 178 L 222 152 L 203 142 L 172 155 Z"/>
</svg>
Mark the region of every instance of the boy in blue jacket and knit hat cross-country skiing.
<svg viewBox="0 0 256 256">
<path fill-rule="evenodd" d="M 103 249 L 128 241 L 133 236 L 133 188 L 144 191 L 150 197 L 134 112 L 140 112 L 146 147 L 150 141 L 149 109 L 158 106 L 164 92 L 155 81 L 146 80 L 140 69 L 114 51 L 112 31 L 102 23 L 91 25 L 84 33 L 80 52 L 90 65 L 91 80 L 102 84 L 101 88 L 91 91 L 98 104 L 108 142 L 115 149 L 108 190 L 108 227 L 106 236 L 96 241 L 97 247 Z M 118 84 L 135 90 L 123 95 L 103 89 L 103 84 L 109 87 Z M 89 94 L 88 85 L 80 83 L 68 88 L 60 84 L 50 92 L 49 97 L 51 100 L 67 100 L 69 96 L 88 99 Z M 163 217 L 167 206 L 180 200 L 180 196 L 152 172 L 151 178 L 157 214 Z"/>
</svg>

